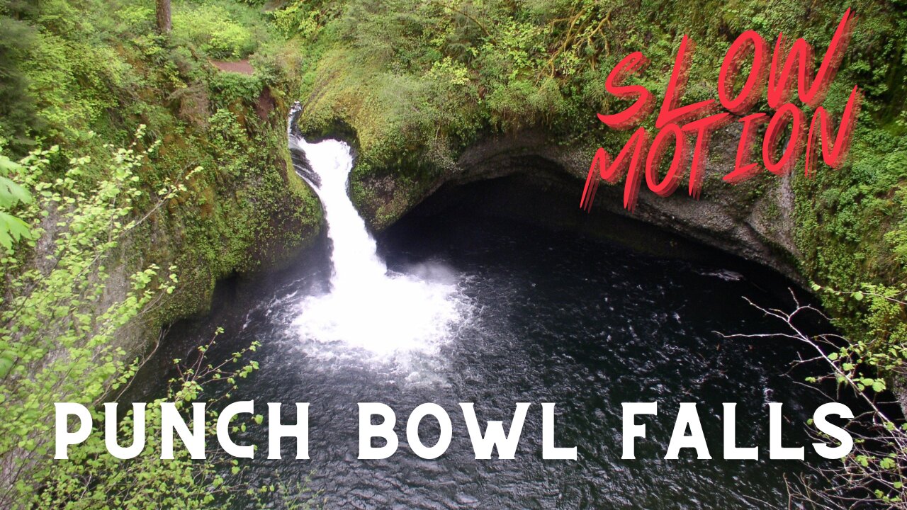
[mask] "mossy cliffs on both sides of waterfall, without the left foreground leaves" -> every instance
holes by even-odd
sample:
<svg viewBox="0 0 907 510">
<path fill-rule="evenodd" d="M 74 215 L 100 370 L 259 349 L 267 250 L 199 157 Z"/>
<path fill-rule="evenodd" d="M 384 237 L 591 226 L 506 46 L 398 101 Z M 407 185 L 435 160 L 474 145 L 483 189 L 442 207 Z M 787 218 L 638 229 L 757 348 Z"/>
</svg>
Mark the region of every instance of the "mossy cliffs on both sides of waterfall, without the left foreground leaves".
<svg viewBox="0 0 907 510">
<path fill-rule="evenodd" d="M 186 0 L 174 3 L 170 38 L 155 34 L 150 5 L 140 0 L 15 5 L 2 11 L 10 31 L 0 39 L 0 68 L 14 78 L 0 93 L 22 104 L 0 110 L 8 147 L 23 151 L 37 138 L 100 150 L 128 142 L 144 123 L 150 138 L 163 141 L 142 173 L 148 190 L 205 168 L 191 197 L 137 241 L 150 247 L 142 258 L 178 261 L 187 281 L 198 280 L 179 313 L 197 308 L 218 278 L 276 263 L 317 231 L 316 198 L 287 172 L 283 115 L 297 98 L 303 132 L 353 143 L 353 199 L 382 228 L 488 135 L 532 130 L 554 144 L 618 149 L 627 133 L 606 129 L 594 113 L 625 105 L 603 83 L 631 51 L 644 51 L 651 64 L 630 83 L 658 96 L 688 34 L 697 48 L 684 101 L 714 98 L 718 63 L 737 34 L 756 29 L 769 42 L 779 32 L 803 36 L 821 54 L 853 6 L 856 31 L 824 105 L 840 113 L 858 83 L 863 113 L 851 163 L 795 178 L 798 262 L 806 279 L 832 287 L 904 282 L 907 14 L 898 5 L 783 0 L 766 12 L 756 0 L 347 0 L 293 1 L 264 12 L 255 3 Z M 198 23 L 187 24 L 190 18 Z M 255 66 L 251 76 L 208 64 L 244 56 Z M 765 103 L 756 108 L 769 111 Z M 724 186 L 719 181 L 706 176 L 707 187 Z M 732 192 L 752 203 L 767 182 L 758 177 Z M 874 330 L 865 304 L 824 299 L 846 332 Z"/>
</svg>

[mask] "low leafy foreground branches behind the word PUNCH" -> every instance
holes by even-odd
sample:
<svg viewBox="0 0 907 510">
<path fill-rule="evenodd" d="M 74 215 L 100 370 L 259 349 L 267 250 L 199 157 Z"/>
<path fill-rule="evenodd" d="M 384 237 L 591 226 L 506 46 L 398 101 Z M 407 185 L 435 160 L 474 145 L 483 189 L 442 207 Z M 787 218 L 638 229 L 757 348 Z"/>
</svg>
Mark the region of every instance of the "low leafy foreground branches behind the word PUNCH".
<svg viewBox="0 0 907 510">
<path fill-rule="evenodd" d="M 205 460 L 198 461 L 192 460 L 184 448 L 176 447 L 173 459 L 161 460 L 161 403 L 172 402 L 183 414 L 192 403 L 205 402 L 210 408 L 229 397 L 227 391 L 236 387 L 236 380 L 247 378 L 258 368 L 255 361 L 242 359 L 255 351 L 255 344 L 218 365 L 208 364 L 204 353 L 214 342 L 211 339 L 200 346 L 198 358 L 183 368 L 180 377 L 171 379 L 165 396 L 147 403 L 143 429 L 146 449 L 141 455 L 130 460 L 116 459 L 107 453 L 103 435 L 93 434 L 84 443 L 71 446 L 68 459 L 54 461 L 49 469 L 38 471 L 33 484 L 24 485 L 24 494 L 18 495 L 23 498 L 20 501 L 47 509 L 198 509 L 229 505 L 238 497 L 254 501 L 256 496 L 275 492 L 277 488 L 273 486 L 228 481 L 228 472 L 234 477 L 239 475 L 239 461 L 216 449 L 206 451 Z M 103 418 L 94 413 L 95 423 L 103 423 Z M 260 423 L 262 418 L 250 418 L 248 425 Z M 247 423 L 234 422 L 231 429 L 236 433 L 246 427 Z M 135 428 L 130 409 L 122 419 L 119 436 L 131 438 Z M 206 417 L 205 435 L 216 434 L 215 420 Z M 31 493 L 31 486 L 46 488 Z"/>
</svg>

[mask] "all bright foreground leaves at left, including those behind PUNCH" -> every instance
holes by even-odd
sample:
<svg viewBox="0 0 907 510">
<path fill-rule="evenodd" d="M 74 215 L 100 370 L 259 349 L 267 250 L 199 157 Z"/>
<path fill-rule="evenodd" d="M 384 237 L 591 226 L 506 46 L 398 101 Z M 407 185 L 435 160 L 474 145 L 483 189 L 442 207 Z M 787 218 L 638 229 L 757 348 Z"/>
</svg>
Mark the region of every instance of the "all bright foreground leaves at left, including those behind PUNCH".
<svg viewBox="0 0 907 510">
<path fill-rule="evenodd" d="M 141 138 L 141 132 L 139 133 Z M 116 341 L 118 332 L 141 319 L 147 310 L 176 288 L 170 268 L 151 264 L 118 281 L 116 250 L 131 230 L 186 190 L 182 182 L 158 191 L 156 205 L 132 220 L 133 206 L 144 194 L 137 170 L 158 148 L 144 151 L 110 149 L 103 162 L 74 158 L 54 179 L 51 162 L 58 147 L 35 151 L 21 164 L 4 159 L 10 176 L 33 190 L 16 190 L 21 203 L 15 229 L 24 245 L 6 243 L 0 268 L 7 275 L 4 308 L 0 313 L 0 401 L 6 419 L 0 424 L 4 507 L 34 508 L 147 508 L 163 504 L 199 507 L 227 491 L 216 475 L 216 463 L 194 463 L 186 452 L 168 463 L 140 456 L 122 462 L 106 455 L 102 436 L 73 448 L 69 460 L 48 463 L 53 449 L 54 402 L 76 400 L 100 407 L 134 375 L 138 361 L 128 362 Z M 200 169 L 191 171 L 190 178 Z M 94 186 L 83 175 L 106 177 Z M 29 248 L 47 252 L 44 260 L 27 257 Z M 15 275 L 15 276 L 13 276 Z M 126 285 L 118 287 L 118 285 Z M 256 368 L 254 361 L 231 370 L 239 353 L 218 367 L 193 367 L 168 399 L 178 402 L 200 397 L 210 379 L 235 378 Z M 154 415 L 152 407 L 152 419 Z M 157 409 L 160 413 L 160 408 Z M 95 420 L 100 422 L 96 414 Z M 160 427 L 152 421 L 151 430 Z M 212 426 L 213 427 L 213 426 Z M 132 430 L 126 419 L 123 432 Z M 158 445 L 151 445 L 158 446 Z M 235 488 L 235 487 L 231 487 Z"/>
</svg>

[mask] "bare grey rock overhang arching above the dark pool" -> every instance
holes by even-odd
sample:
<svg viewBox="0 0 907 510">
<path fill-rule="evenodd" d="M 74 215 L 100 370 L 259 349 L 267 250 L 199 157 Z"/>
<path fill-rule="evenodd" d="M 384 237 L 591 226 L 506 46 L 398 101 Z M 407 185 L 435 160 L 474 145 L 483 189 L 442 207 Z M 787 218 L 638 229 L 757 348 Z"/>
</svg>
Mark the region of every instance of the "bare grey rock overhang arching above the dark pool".
<svg viewBox="0 0 907 510">
<path fill-rule="evenodd" d="M 552 216 L 561 216 L 562 220 L 569 219 L 594 236 L 603 232 L 596 232 L 594 226 L 590 231 L 586 223 L 598 224 L 600 229 L 610 228 L 614 219 L 601 220 L 603 216 L 641 221 L 681 238 L 763 264 L 802 284 L 805 279 L 796 262 L 792 218 L 794 194 L 790 176 L 777 177 L 764 172 L 738 185 L 722 181 L 722 177 L 733 170 L 738 140 L 739 132 L 735 129 L 718 132 L 712 138 L 699 200 L 688 195 L 687 181 L 682 181 L 678 190 L 667 198 L 652 193 L 643 182 L 633 212 L 623 208 L 622 181 L 615 185 L 602 183 L 590 214 L 580 211 L 580 195 L 592 152 L 553 142 L 541 132 L 495 136 L 476 143 L 460 155 L 453 169 L 445 171 L 431 185 L 408 195 L 405 186 L 389 177 L 393 173 L 385 174 L 380 180 L 362 181 L 362 185 L 375 192 L 368 194 L 370 201 L 357 205 L 366 211 L 366 217 L 368 211 L 383 211 L 380 218 L 372 215 L 369 219 L 373 228 L 383 230 L 439 189 L 448 190 L 474 181 L 517 174 L 530 185 L 543 187 L 545 192 L 564 195 L 556 207 L 544 211 L 549 222 Z M 390 208 L 393 213 L 388 214 L 387 206 L 391 201 L 394 202 Z M 527 212 L 539 207 L 529 202 L 513 206 Z M 584 221 L 583 216 L 600 221 Z M 645 240 L 642 243 L 645 244 Z M 636 245 L 646 248 L 639 246 L 639 240 Z"/>
</svg>

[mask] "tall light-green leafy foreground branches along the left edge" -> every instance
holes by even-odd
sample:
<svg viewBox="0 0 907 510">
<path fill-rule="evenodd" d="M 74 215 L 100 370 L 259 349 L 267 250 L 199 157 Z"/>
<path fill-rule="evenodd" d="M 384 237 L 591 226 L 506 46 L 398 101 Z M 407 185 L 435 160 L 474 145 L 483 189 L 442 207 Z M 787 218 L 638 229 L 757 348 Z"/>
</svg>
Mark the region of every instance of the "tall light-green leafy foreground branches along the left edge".
<svg viewBox="0 0 907 510">
<path fill-rule="evenodd" d="M 47 477 L 54 468 L 47 459 L 54 402 L 94 407 L 122 386 L 134 366 L 114 342 L 116 334 L 174 289 L 172 268 L 160 275 L 151 264 L 122 280 L 108 270 L 125 234 L 156 210 L 132 218 L 133 201 L 142 193 L 135 172 L 156 148 L 109 147 L 105 162 L 74 157 L 59 177 L 48 174 L 56 147 L 34 151 L 20 163 L 0 160 L 9 175 L 0 211 L 22 229 L 10 230 L 7 235 L 16 234 L 19 242 L 5 243 L 0 258 L 5 274 L 0 300 L 0 401 L 7 417 L 0 424 L 4 506 L 31 505 L 39 500 L 39 488 L 52 482 Z M 90 172 L 104 178 L 91 185 L 83 179 Z M 159 203 L 180 191 L 185 191 L 182 183 L 162 187 Z"/>
</svg>

